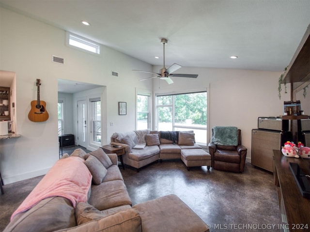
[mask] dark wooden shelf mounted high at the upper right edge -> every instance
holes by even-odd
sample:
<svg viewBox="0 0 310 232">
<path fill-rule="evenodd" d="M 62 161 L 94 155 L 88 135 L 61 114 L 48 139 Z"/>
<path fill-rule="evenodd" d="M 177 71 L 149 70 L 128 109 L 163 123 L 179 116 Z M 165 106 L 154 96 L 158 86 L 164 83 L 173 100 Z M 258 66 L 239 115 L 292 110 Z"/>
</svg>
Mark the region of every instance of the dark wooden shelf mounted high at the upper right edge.
<svg viewBox="0 0 310 232">
<path fill-rule="evenodd" d="M 301 90 L 310 84 L 310 26 L 283 76 L 282 84 L 287 83 L 293 83 L 293 90 Z"/>
</svg>

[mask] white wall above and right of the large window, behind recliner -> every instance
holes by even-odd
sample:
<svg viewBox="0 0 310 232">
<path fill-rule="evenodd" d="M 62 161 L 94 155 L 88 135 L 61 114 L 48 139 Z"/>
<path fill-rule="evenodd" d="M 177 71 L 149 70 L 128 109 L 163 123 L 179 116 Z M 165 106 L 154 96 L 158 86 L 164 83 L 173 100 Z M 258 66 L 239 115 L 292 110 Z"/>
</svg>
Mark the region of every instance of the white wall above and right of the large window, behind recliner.
<svg viewBox="0 0 310 232">
<path fill-rule="evenodd" d="M 156 66 L 153 72 L 158 72 L 159 69 L 161 67 Z M 248 148 L 249 162 L 251 130 L 257 128 L 257 118 L 283 115 L 283 102 L 290 100 L 290 95 L 284 94 L 284 91 L 281 100 L 278 97 L 278 79 L 282 72 L 183 67 L 176 73 L 198 74 L 198 78 L 171 77 L 174 81 L 171 85 L 165 80 L 159 81 L 156 78 L 153 80 L 154 95 L 180 89 L 195 90 L 209 87 L 208 128 L 236 126 L 241 129 L 242 144 Z M 290 92 L 289 86 L 288 92 Z M 209 142 L 211 130 L 208 132 Z"/>
</svg>

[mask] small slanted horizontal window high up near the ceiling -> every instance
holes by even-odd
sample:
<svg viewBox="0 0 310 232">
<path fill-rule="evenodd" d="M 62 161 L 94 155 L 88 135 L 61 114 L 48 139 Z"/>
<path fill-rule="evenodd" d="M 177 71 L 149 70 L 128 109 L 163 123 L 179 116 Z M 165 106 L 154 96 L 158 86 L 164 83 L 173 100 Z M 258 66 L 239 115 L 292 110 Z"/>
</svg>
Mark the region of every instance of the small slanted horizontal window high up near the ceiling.
<svg viewBox="0 0 310 232">
<path fill-rule="evenodd" d="M 67 32 L 67 44 L 95 54 L 100 54 L 100 44 Z"/>
</svg>

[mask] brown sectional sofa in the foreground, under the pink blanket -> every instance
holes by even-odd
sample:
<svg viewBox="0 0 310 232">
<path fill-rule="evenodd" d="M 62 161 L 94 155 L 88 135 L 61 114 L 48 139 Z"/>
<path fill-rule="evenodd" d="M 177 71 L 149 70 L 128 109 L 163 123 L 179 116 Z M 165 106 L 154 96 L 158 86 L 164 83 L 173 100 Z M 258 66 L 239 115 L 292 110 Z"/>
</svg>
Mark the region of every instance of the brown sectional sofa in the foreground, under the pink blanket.
<svg viewBox="0 0 310 232">
<path fill-rule="evenodd" d="M 75 158 L 70 158 L 71 156 Z M 92 174 L 93 183 L 88 193 L 85 192 L 88 201 L 77 202 L 74 207 L 64 197 L 48 197 L 27 211 L 16 214 L 4 232 L 209 231 L 202 219 L 173 194 L 132 207 L 123 176 L 117 166 L 116 154 L 105 154 L 99 148 L 89 154 L 77 149 L 71 156 L 66 154 L 63 158 L 71 162 L 70 159 L 80 157 L 78 160 L 83 159 L 81 162 L 88 167 L 86 172 Z M 48 180 L 45 179 L 46 176 L 41 181 Z"/>
</svg>

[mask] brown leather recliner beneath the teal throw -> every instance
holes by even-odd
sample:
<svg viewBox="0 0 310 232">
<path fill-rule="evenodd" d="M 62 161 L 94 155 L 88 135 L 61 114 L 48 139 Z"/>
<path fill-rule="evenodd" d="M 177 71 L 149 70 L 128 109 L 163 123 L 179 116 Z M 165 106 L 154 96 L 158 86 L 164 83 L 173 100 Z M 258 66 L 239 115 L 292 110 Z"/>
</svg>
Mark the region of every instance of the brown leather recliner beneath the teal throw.
<svg viewBox="0 0 310 232">
<path fill-rule="evenodd" d="M 211 167 L 216 170 L 243 173 L 247 157 L 247 148 L 241 145 L 241 130 L 238 131 L 238 145 L 216 145 L 209 143 Z M 213 129 L 212 129 L 213 136 Z"/>
</svg>

